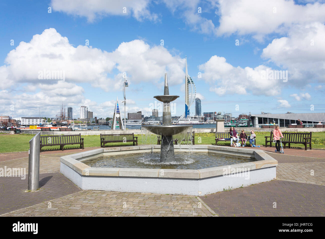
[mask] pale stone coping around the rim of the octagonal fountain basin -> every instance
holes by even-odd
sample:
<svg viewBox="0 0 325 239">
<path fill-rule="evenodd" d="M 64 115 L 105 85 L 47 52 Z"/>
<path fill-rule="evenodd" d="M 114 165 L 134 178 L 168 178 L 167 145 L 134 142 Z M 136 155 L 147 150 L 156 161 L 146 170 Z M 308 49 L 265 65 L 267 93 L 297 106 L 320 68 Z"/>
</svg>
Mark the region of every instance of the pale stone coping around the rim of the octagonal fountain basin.
<svg viewBox="0 0 325 239">
<path fill-rule="evenodd" d="M 158 147 L 159 146 L 159 147 Z M 278 161 L 262 150 L 247 150 L 240 148 L 231 148 L 225 146 L 214 145 L 175 145 L 177 149 L 191 148 L 193 152 L 196 150 L 206 149 L 206 152 L 215 153 L 242 153 L 248 154 L 248 157 L 253 157 L 256 161 L 217 166 L 203 169 L 161 169 L 161 168 L 105 168 L 105 167 L 90 167 L 80 160 L 90 159 L 102 156 L 105 152 L 133 151 L 141 152 L 141 150 L 158 149 L 160 145 L 140 145 L 129 147 L 111 147 L 90 150 L 82 153 L 75 153 L 60 157 L 61 163 L 69 166 L 80 175 L 84 176 L 111 176 L 111 177 L 147 177 L 147 178 L 182 178 L 182 179 L 203 179 L 209 177 L 228 174 L 225 172 L 243 172 L 260 168 L 274 167 L 278 165 Z M 130 153 L 130 152 L 128 152 Z"/>
</svg>

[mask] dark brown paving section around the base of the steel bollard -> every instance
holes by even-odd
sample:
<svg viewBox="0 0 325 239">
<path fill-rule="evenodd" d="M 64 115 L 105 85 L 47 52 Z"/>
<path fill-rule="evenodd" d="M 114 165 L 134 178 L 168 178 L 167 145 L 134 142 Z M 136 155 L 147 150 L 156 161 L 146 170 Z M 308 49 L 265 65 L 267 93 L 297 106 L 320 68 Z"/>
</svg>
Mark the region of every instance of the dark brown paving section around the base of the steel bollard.
<svg viewBox="0 0 325 239">
<path fill-rule="evenodd" d="M 0 215 L 81 191 L 60 173 L 40 174 L 39 191 L 25 192 L 28 176 L 0 177 Z"/>
</svg>

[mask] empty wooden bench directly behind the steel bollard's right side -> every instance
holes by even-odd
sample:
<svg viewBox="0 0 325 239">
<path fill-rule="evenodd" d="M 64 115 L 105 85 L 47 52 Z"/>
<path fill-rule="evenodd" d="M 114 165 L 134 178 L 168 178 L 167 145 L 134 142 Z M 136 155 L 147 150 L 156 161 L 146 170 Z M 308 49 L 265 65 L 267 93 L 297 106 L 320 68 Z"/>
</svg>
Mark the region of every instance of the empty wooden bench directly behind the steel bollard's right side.
<svg viewBox="0 0 325 239">
<path fill-rule="evenodd" d="M 80 149 L 84 149 L 84 138 L 81 138 L 81 134 L 41 136 L 40 152 L 44 146 L 59 145 L 60 150 L 63 150 L 64 145 L 70 144 L 80 144 Z"/>
</svg>

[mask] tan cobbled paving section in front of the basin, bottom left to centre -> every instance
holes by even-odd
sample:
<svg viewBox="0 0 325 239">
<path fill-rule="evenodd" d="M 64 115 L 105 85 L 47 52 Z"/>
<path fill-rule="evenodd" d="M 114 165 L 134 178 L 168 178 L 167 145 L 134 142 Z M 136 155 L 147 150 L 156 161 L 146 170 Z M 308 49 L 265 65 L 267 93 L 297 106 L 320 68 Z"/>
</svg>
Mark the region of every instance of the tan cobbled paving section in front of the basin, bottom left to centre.
<svg viewBox="0 0 325 239">
<path fill-rule="evenodd" d="M 195 196 L 82 191 L 3 216 L 212 216 Z"/>
</svg>

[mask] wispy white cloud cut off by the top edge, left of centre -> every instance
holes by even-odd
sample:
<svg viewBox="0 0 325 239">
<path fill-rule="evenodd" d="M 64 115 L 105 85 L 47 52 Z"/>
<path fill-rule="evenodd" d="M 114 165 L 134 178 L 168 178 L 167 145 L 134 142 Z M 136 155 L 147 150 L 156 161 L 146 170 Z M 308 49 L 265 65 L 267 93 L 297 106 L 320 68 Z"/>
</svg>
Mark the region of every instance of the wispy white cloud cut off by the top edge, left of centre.
<svg viewBox="0 0 325 239">
<path fill-rule="evenodd" d="M 86 17 L 89 22 L 93 22 L 96 18 L 111 15 L 133 16 L 138 21 L 144 19 L 157 21 L 158 15 L 149 11 L 150 2 L 150 0 L 51 0 L 50 6 L 54 11 L 62 11 L 75 16 Z"/>
</svg>

